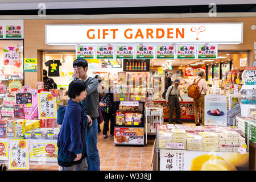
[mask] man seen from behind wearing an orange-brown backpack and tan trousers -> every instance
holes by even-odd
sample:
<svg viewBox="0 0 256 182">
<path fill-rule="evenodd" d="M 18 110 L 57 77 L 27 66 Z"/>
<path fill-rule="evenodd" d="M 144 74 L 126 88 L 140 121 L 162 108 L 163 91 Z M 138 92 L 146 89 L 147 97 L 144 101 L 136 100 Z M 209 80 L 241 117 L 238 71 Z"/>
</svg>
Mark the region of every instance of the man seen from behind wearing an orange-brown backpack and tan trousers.
<svg viewBox="0 0 256 182">
<path fill-rule="evenodd" d="M 199 81 L 199 79 L 201 80 Z M 193 98 L 194 114 L 195 114 L 196 126 L 200 126 L 199 117 L 198 117 L 199 107 L 202 111 L 202 125 L 204 125 L 204 96 L 207 92 L 207 82 L 205 80 L 205 72 L 204 71 L 199 72 L 198 77 L 195 80 L 196 82 L 199 81 L 197 85 L 200 88 L 200 96 L 198 99 Z"/>
</svg>

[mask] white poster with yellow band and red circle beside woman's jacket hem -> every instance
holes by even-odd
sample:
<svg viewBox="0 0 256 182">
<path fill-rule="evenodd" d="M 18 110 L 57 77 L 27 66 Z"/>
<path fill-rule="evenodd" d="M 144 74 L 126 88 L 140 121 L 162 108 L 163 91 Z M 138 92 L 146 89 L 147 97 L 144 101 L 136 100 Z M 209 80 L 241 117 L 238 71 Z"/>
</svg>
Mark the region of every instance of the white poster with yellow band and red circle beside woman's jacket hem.
<svg viewBox="0 0 256 182">
<path fill-rule="evenodd" d="M 31 140 L 30 161 L 57 162 L 57 140 Z"/>
</svg>

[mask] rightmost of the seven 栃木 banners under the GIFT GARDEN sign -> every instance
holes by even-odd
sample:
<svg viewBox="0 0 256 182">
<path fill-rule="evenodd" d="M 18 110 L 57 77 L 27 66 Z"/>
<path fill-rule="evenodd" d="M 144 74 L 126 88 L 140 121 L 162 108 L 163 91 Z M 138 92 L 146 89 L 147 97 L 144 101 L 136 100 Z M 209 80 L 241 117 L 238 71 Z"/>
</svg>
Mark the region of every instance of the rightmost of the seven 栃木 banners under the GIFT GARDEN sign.
<svg viewBox="0 0 256 182">
<path fill-rule="evenodd" d="M 217 59 L 218 56 L 218 46 L 197 46 L 198 59 Z"/>
</svg>

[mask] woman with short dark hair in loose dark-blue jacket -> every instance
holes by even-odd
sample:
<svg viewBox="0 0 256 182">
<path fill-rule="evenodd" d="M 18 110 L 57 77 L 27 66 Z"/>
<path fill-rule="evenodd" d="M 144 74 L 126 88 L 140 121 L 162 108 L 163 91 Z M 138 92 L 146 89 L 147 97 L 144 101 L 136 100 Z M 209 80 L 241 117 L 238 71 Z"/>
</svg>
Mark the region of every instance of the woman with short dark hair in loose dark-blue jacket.
<svg viewBox="0 0 256 182">
<path fill-rule="evenodd" d="M 63 171 L 86 171 L 86 129 L 88 118 L 79 104 L 86 97 L 84 81 L 72 81 L 68 86 L 68 105 L 57 139 L 58 164 Z"/>
</svg>

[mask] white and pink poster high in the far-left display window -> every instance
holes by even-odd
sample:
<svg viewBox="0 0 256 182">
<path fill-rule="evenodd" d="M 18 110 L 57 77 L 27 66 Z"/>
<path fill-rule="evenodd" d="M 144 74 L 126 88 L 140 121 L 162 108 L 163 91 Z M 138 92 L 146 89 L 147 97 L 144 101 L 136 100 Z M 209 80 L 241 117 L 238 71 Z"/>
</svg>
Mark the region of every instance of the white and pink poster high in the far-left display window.
<svg viewBox="0 0 256 182">
<path fill-rule="evenodd" d="M 19 61 L 19 48 L 18 47 L 3 47 L 3 64 L 14 65 Z"/>
</svg>

